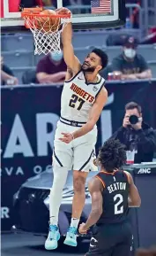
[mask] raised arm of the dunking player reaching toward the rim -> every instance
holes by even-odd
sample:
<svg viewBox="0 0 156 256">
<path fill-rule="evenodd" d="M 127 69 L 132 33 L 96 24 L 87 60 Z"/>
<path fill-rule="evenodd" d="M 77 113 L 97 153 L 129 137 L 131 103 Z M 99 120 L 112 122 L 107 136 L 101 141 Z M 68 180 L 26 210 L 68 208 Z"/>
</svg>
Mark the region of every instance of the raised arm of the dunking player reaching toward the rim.
<svg viewBox="0 0 156 256">
<path fill-rule="evenodd" d="M 74 49 L 72 46 L 71 23 L 67 24 L 67 26 L 63 28 L 62 43 L 63 43 L 63 58 L 66 65 L 68 66 L 67 75 L 66 75 L 66 80 L 68 80 L 71 78 L 71 76 L 73 76 L 74 74 L 77 74 L 81 67 L 78 58 L 74 54 Z"/>
</svg>

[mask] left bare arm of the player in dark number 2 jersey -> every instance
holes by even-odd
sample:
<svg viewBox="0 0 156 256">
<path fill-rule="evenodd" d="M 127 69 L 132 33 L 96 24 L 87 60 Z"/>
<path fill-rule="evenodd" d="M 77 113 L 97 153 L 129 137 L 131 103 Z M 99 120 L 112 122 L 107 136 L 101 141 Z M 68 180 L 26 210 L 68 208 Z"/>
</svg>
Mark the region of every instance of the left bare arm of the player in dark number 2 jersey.
<svg viewBox="0 0 156 256">
<path fill-rule="evenodd" d="M 85 230 L 92 227 L 100 219 L 100 215 L 103 211 L 103 198 L 101 194 L 103 190 L 102 183 L 99 179 L 94 177 L 93 180 L 89 182 L 88 188 L 92 197 L 92 210 L 85 222 Z"/>
</svg>

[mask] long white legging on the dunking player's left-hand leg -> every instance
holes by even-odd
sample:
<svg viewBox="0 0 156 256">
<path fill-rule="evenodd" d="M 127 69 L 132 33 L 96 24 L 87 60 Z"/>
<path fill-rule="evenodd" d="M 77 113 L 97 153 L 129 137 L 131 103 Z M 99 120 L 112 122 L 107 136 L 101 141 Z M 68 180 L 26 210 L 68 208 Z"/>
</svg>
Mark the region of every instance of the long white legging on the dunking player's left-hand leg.
<svg viewBox="0 0 156 256">
<path fill-rule="evenodd" d="M 49 222 L 58 225 L 58 213 L 63 198 L 63 187 L 65 185 L 68 168 L 53 167 L 54 180 L 49 194 Z"/>
</svg>

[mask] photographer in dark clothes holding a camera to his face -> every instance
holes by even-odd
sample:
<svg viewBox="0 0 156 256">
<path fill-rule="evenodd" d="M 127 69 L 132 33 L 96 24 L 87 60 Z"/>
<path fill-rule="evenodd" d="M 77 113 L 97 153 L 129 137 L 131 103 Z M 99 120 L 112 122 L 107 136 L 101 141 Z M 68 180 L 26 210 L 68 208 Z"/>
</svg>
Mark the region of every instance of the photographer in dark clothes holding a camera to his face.
<svg viewBox="0 0 156 256">
<path fill-rule="evenodd" d="M 143 120 L 141 106 L 135 102 L 125 105 L 123 126 L 112 136 L 135 151 L 134 163 L 151 162 L 156 151 L 156 131 Z"/>
</svg>

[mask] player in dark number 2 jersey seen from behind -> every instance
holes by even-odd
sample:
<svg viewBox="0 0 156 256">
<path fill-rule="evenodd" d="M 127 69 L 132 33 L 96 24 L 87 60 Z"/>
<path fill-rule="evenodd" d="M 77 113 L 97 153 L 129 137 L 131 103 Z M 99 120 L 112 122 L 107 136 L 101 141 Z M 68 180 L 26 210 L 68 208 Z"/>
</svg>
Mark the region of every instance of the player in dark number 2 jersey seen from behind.
<svg viewBox="0 0 156 256">
<path fill-rule="evenodd" d="M 139 207 L 141 199 L 132 176 L 123 171 L 126 161 L 124 145 L 109 139 L 98 156 L 100 173 L 89 182 L 92 211 L 79 227 L 86 234 L 93 225 L 89 252 L 85 256 L 129 256 L 131 225 L 129 207 Z"/>
</svg>

